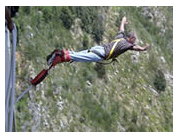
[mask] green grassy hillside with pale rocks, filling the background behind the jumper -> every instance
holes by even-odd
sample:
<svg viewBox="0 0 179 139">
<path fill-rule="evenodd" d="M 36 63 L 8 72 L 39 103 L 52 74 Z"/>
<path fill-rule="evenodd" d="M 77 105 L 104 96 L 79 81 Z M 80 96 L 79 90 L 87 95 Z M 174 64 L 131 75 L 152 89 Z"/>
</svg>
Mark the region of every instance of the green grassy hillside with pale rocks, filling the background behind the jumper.
<svg viewBox="0 0 179 139">
<path fill-rule="evenodd" d="M 21 7 L 16 95 L 55 48 L 109 43 L 124 15 L 150 49 L 107 66 L 59 64 L 16 104 L 17 131 L 173 131 L 172 7 Z"/>
</svg>

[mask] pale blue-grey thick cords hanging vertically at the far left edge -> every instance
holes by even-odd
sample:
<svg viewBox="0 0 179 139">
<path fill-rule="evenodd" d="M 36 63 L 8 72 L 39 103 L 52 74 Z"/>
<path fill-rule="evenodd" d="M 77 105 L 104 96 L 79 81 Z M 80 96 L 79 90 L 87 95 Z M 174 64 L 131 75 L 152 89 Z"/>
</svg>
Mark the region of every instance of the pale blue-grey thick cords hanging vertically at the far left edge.
<svg viewBox="0 0 179 139">
<path fill-rule="evenodd" d="M 11 64 L 10 64 L 10 72 L 8 76 L 7 88 L 5 92 L 5 131 L 12 132 L 13 131 L 13 117 L 14 117 L 14 97 L 15 97 L 15 79 L 16 79 L 16 44 L 17 44 L 17 29 L 15 23 L 13 24 L 14 28 L 12 31 L 12 44 L 7 42 L 9 40 L 5 40 L 5 45 L 12 45 L 12 54 L 11 54 Z M 6 28 L 7 31 L 7 28 Z M 9 31 L 6 32 L 6 37 L 9 34 Z M 6 61 L 9 62 L 9 61 Z M 7 64 L 7 63 L 6 63 Z M 7 72 L 7 71 L 5 71 Z"/>
</svg>

